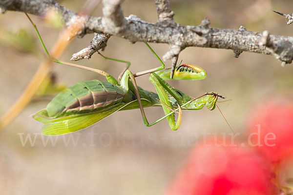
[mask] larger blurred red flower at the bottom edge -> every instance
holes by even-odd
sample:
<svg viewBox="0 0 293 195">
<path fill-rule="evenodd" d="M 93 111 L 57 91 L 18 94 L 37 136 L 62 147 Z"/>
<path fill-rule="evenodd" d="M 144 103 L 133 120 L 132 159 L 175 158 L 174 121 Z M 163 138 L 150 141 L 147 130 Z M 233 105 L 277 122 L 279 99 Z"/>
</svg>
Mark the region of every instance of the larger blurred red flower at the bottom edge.
<svg viewBox="0 0 293 195">
<path fill-rule="evenodd" d="M 167 195 L 275 194 L 270 164 L 254 148 L 239 147 L 237 151 L 209 143 L 191 151 L 188 164 Z"/>
</svg>

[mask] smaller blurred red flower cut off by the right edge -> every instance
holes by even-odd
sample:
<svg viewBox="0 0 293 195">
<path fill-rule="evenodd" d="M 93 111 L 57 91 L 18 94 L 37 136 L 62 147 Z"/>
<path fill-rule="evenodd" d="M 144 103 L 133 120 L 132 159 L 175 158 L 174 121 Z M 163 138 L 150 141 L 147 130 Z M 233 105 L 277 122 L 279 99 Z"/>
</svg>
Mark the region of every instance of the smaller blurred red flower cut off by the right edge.
<svg viewBox="0 0 293 195">
<path fill-rule="evenodd" d="M 293 103 L 274 99 L 263 103 L 253 113 L 249 123 L 251 143 L 272 161 L 292 155 Z"/>
</svg>

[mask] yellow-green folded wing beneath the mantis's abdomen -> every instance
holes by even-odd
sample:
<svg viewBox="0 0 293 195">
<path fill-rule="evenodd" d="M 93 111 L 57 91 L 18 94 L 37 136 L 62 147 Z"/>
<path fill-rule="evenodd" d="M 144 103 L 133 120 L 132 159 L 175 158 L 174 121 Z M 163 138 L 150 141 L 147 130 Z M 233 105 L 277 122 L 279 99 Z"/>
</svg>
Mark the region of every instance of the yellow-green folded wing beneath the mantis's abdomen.
<svg viewBox="0 0 293 195">
<path fill-rule="evenodd" d="M 151 103 L 146 99 L 142 99 L 142 102 L 144 107 L 150 106 Z M 57 136 L 82 130 L 86 127 L 89 127 L 90 125 L 95 124 L 96 122 L 99 122 L 105 117 L 112 115 L 122 108 L 127 109 L 127 107 L 129 107 L 128 109 L 131 109 L 136 104 L 138 104 L 138 102 L 137 100 L 134 100 L 129 103 L 116 105 L 115 107 L 94 113 L 74 114 L 58 118 L 48 117 L 46 114 L 47 111 L 43 109 L 34 114 L 33 118 L 44 124 L 42 127 L 42 134 L 47 136 Z"/>
</svg>

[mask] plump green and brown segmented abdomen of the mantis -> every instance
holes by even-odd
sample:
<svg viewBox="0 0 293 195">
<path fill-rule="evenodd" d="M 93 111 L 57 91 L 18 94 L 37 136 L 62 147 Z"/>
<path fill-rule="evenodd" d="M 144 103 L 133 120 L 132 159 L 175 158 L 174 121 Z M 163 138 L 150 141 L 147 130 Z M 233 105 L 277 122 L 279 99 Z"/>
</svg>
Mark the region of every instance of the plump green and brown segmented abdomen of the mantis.
<svg viewBox="0 0 293 195">
<path fill-rule="evenodd" d="M 63 90 L 47 105 L 49 117 L 59 117 L 64 113 L 92 111 L 120 103 L 124 92 L 110 82 L 90 80 L 79 82 Z"/>
</svg>

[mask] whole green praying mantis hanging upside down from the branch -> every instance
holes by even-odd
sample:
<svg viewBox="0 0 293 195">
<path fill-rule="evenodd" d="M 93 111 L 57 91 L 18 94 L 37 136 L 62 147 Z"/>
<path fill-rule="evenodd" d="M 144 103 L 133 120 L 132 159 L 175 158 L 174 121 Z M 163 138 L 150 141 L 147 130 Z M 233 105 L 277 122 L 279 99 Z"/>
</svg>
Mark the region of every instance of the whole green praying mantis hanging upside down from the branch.
<svg viewBox="0 0 293 195">
<path fill-rule="evenodd" d="M 33 24 L 47 56 L 52 59 L 37 27 L 29 17 L 28 19 Z M 224 98 L 214 92 L 206 93 L 198 98 L 192 98 L 171 87 L 165 81 L 170 79 L 170 69 L 165 69 L 164 62 L 147 43 L 145 44 L 159 60 L 161 66 L 136 74 L 132 74 L 128 70 L 130 62 L 107 58 L 99 53 L 105 59 L 126 63 L 126 68 L 120 74 L 118 80 L 102 70 L 52 59 L 56 63 L 101 74 L 105 76 L 107 82 L 90 80 L 79 82 L 63 90 L 48 103 L 45 109 L 33 115 L 34 119 L 43 123 L 42 134 L 53 136 L 72 133 L 93 125 L 117 111 L 138 108 L 146 126 L 152 126 L 167 118 L 171 130 L 177 130 L 181 124 L 182 109 L 200 110 L 206 105 L 209 110 L 213 110 L 216 107 L 218 98 Z M 146 74 L 150 74 L 149 81 L 155 86 L 157 94 L 137 86 L 135 78 Z M 198 80 L 204 79 L 206 76 L 206 71 L 196 65 L 179 64 L 176 67 L 173 79 Z M 162 106 L 165 116 L 153 123 L 149 123 L 144 108 L 150 106 Z M 174 113 L 178 114 L 177 121 Z"/>
</svg>

